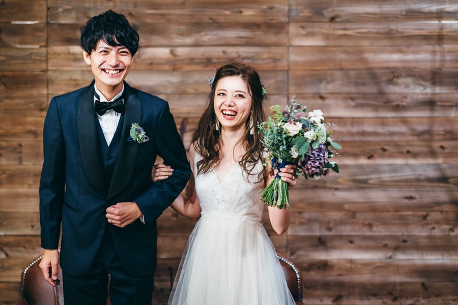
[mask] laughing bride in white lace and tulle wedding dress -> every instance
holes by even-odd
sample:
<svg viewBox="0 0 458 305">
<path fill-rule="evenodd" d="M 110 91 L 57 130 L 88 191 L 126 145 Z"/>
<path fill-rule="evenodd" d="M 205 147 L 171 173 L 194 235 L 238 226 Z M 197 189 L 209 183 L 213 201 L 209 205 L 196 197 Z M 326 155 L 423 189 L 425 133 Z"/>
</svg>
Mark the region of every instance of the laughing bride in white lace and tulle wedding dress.
<svg viewBox="0 0 458 305">
<path fill-rule="evenodd" d="M 257 133 L 265 90 L 257 72 L 240 63 L 219 68 L 210 84 L 208 107 L 189 149 L 193 176 L 186 195 L 171 205 L 198 221 L 168 304 L 295 304 L 261 221 L 260 192 L 273 180 L 263 166 Z M 169 166 L 156 165 L 152 178 L 171 174 Z M 282 168 L 279 175 L 296 185 L 296 166 Z M 269 206 L 268 212 L 274 230 L 287 231 L 291 211 Z"/>
</svg>

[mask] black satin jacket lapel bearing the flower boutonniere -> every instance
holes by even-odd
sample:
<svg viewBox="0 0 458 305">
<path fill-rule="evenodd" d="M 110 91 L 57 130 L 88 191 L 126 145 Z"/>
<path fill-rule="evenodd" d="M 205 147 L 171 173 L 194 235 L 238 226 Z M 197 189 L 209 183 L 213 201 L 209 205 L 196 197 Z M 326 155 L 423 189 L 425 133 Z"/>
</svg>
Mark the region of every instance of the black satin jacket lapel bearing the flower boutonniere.
<svg viewBox="0 0 458 305">
<path fill-rule="evenodd" d="M 124 124 L 121 133 L 119 153 L 116 159 L 113 177 L 111 178 L 107 199 L 115 196 L 127 186 L 133 174 L 134 166 L 132 166 L 132 163 L 135 162 L 138 151 L 138 143 L 128 142 L 127 139 L 130 135 L 130 126 L 132 123 L 138 123 L 141 126 L 140 101 L 132 88 L 126 83 L 124 83 L 124 90 L 126 93 L 126 100 L 124 101 L 126 109 L 124 112 Z"/>
</svg>

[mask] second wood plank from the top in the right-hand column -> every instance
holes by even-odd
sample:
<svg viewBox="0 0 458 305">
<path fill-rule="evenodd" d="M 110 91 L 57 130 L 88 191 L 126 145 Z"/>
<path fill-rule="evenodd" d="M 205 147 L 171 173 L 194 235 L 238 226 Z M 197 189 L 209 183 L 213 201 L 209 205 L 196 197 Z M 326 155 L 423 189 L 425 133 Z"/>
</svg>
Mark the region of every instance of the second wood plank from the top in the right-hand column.
<svg viewBox="0 0 458 305">
<path fill-rule="evenodd" d="M 456 45 L 455 22 L 291 22 L 291 46 Z M 440 37 L 440 39 L 438 39 Z"/>
</svg>

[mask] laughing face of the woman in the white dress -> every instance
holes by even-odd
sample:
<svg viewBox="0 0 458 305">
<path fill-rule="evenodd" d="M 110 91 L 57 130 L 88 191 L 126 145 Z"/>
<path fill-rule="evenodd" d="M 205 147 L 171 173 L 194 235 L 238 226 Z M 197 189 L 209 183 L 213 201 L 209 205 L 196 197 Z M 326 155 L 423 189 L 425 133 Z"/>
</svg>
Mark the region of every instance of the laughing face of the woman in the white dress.
<svg viewBox="0 0 458 305">
<path fill-rule="evenodd" d="M 246 82 L 239 76 L 220 78 L 213 107 L 222 129 L 245 129 L 251 110 L 251 94 Z"/>
</svg>

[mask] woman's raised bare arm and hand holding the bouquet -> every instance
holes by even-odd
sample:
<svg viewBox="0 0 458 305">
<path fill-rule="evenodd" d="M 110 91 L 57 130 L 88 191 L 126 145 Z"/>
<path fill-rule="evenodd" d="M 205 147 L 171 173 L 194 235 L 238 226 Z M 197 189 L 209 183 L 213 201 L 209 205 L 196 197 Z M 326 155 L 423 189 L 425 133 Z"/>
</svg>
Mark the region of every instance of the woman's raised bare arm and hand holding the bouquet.
<svg viewBox="0 0 458 305">
<path fill-rule="evenodd" d="M 271 165 L 270 162 L 267 162 L 267 171 L 269 172 L 271 170 Z M 288 182 L 289 186 L 288 189 L 296 186 L 297 182 L 297 175 L 296 175 L 296 165 L 288 164 L 285 167 L 280 169 L 280 177 L 283 181 Z M 275 171 L 275 175 L 277 174 L 277 171 Z M 267 174 L 267 179 L 266 179 L 266 186 L 270 184 L 270 182 L 273 181 L 274 176 L 271 176 Z M 283 234 L 288 230 L 288 227 L 290 226 L 290 220 L 291 220 L 291 210 L 290 209 L 279 209 L 278 207 L 275 206 L 268 206 L 267 207 L 269 211 L 269 220 L 270 224 L 272 225 L 272 228 L 277 232 L 277 234 Z"/>
</svg>

